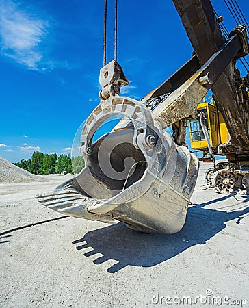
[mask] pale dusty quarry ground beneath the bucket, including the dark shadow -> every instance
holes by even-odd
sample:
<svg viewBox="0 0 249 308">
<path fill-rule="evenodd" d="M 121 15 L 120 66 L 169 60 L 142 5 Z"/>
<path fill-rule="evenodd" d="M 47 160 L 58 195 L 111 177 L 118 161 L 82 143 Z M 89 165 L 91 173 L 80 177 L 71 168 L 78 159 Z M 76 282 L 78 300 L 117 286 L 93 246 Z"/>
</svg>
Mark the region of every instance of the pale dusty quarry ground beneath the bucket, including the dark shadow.
<svg viewBox="0 0 249 308">
<path fill-rule="evenodd" d="M 70 217 L 1 236 L 0 307 L 249 307 L 249 196 L 217 194 L 207 168 L 175 235 Z M 34 195 L 62 181 L 0 185 L 0 233 L 60 217 Z"/>
</svg>

